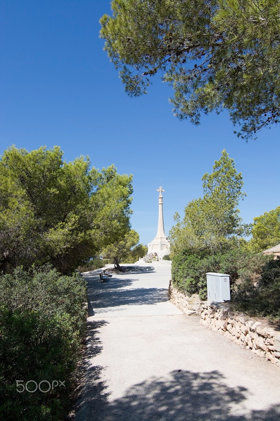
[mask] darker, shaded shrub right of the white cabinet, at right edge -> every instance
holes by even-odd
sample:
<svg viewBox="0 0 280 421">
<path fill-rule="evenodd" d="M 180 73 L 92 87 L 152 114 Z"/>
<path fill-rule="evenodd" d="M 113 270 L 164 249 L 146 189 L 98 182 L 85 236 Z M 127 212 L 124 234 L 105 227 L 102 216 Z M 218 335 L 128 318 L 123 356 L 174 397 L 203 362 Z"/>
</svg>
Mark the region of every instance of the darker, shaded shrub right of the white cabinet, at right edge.
<svg viewBox="0 0 280 421">
<path fill-rule="evenodd" d="M 233 293 L 235 309 L 250 316 L 280 320 L 280 258 L 270 256 L 262 269 L 259 282 L 251 276 L 236 285 Z"/>
</svg>

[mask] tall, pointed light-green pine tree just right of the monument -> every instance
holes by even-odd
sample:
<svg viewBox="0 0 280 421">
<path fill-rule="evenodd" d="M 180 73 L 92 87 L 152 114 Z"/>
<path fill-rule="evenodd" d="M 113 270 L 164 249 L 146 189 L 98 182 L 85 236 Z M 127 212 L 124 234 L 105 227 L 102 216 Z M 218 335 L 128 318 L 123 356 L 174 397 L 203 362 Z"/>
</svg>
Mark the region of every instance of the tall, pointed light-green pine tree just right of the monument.
<svg viewBox="0 0 280 421">
<path fill-rule="evenodd" d="M 241 192 L 242 176 L 225 149 L 213 172 L 205 173 L 202 180 L 203 198 L 188 203 L 183 220 L 178 213 L 174 215 L 177 224 L 169 232 L 172 256 L 186 247 L 212 253 L 237 247 L 239 236 L 248 229 L 241 224 L 237 208 L 246 196 Z"/>
</svg>

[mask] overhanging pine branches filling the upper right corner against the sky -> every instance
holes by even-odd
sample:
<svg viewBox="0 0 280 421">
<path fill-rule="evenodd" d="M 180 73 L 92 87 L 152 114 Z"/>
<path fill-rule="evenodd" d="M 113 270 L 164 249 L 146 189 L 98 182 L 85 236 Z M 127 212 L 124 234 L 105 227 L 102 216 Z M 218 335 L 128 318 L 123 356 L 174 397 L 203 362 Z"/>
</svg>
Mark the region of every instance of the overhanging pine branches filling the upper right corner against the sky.
<svg viewBox="0 0 280 421">
<path fill-rule="evenodd" d="M 199 124 L 201 113 L 227 109 L 246 140 L 280 121 L 280 0 L 114 0 L 111 8 L 100 36 L 130 96 L 159 73 L 180 119 Z"/>
</svg>

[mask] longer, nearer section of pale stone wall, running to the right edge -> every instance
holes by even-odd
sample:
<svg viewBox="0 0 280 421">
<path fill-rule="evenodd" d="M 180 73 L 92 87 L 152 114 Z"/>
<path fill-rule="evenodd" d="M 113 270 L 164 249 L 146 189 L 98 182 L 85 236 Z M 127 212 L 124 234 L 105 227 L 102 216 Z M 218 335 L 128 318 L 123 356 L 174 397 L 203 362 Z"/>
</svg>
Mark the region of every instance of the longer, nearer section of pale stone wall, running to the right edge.
<svg viewBox="0 0 280 421">
<path fill-rule="evenodd" d="M 226 304 L 206 301 L 201 304 L 201 307 L 202 325 L 217 330 L 280 367 L 279 331 L 262 326 L 261 322 L 232 314 Z"/>
</svg>

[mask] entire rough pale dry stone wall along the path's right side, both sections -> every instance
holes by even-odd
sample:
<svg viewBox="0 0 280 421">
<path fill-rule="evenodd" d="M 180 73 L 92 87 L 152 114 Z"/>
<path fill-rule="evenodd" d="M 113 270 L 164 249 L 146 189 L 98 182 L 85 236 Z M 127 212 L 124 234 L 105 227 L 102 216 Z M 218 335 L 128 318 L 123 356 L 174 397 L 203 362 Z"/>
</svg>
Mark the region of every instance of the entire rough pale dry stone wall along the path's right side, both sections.
<svg viewBox="0 0 280 421">
<path fill-rule="evenodd" d="M 179 292 L 169 282 L 170 301 L 182 312 L 201 314 L 201 324 L 217 330 L 226 338 L 246 346 L 259 357 L 266 358 L 280 368 L 280 331 L 263 326 L 261 322 L 233 314 L 227 304 L 201 301 L 198 295 L 191 297 Z"/>
</svg>

